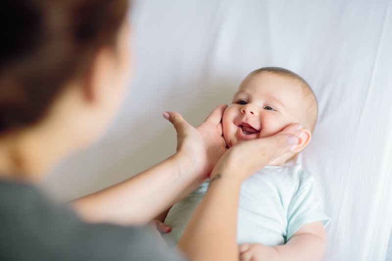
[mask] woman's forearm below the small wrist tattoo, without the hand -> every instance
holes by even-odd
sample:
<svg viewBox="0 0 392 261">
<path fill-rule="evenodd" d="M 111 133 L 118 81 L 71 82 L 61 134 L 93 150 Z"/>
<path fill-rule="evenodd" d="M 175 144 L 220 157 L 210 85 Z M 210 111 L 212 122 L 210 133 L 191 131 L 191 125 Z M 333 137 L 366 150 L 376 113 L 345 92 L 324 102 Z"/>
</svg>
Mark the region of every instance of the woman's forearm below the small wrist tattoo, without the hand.
<svg viewBox="0 0 392 261">
<path fill-rule="evenodd" d="M 238 260 L 236 226 L 240 188 L 241 181 L 231 177 L 218 174 L 211 180 L 178 242 L 191 260 Z"/>
</svg>

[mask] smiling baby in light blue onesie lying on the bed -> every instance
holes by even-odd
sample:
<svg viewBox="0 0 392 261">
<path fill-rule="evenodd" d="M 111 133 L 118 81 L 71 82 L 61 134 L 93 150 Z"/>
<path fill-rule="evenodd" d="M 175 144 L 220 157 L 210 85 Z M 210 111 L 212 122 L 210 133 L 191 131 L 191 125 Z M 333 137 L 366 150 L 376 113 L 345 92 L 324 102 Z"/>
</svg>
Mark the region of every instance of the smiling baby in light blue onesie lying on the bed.
<svg viewBox="0 0 392 261">
<path fill-rule="evenodd" d="M 228 147 L 269 137 L 292 123 L 301 124 L 303 131 L 291 152 L 273 160 L 242 184 L 237 223 L 241 260 L 266 258 L 266 249 L 271 247 L 290 260 L 297 260 L 296 256 L 305 260 L 301 255 L 312 260 L 321 258 L 325 243 L 318 248 L 306 247 L 312 240 L 325 242 L 324 227 L 330 220 L 319 207 L 314 177 L 299 164 L 284 166 L 309 144 L 317 114 L 317 101 L 310 86 L 294 72 L 282 68 L 249 73 L 225 110 L 222 128 Z M 181 237 L 208 184 L 209 181 L 204 182 L 171 208 L 165 219 L 172 227 L 164 235 L 168 242 L 175 243 Z"/>
</svg>

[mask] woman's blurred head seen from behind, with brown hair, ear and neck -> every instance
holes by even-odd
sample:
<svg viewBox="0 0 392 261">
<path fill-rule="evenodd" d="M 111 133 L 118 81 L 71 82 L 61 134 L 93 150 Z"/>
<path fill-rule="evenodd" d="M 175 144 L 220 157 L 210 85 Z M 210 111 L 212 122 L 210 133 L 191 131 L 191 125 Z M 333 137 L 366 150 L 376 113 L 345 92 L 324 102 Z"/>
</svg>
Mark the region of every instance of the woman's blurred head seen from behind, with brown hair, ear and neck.
<svg viewBox="0 0 392 261">
<path fill-rule="evenodd" d="M 130 74 L 127 6 L 1 1 L 0 173 L 41 180 L 103 134 Z"/>
</svg>

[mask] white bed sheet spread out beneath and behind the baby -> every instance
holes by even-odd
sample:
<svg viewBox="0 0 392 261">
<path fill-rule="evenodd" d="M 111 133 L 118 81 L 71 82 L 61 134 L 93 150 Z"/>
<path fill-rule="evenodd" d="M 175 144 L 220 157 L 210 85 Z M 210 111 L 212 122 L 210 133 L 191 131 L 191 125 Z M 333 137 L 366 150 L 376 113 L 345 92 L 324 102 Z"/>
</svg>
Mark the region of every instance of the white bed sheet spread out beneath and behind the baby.
<svg viewBox="0 0 392 261">
<path fill-rule="evenodd" d="M 49 193 L 69 200 L 157 163 L 175 150 L 165 110 L 196 125 L 231 101 L 249 71 L 284 67 L 319 100 L 313 141 L 298 161 L 332 217 L 323 260 L 386 259 L 392 1 L 135 0 L 131 21 L 137 67 L 122 114 L 94 148 L 54 171 Z"/>
</svg>

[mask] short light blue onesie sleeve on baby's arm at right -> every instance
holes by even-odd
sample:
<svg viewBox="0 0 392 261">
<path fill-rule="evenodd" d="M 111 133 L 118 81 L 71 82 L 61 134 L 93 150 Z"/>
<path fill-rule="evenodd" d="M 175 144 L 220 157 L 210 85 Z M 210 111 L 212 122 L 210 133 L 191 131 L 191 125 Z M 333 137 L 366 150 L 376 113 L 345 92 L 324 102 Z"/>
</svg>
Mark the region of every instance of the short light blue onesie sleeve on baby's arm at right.
<svg viewBox="0 0 392 261">
<path fill-rule="evenodd" d="M 324 227 L 329 223 L 329 218 L 321 210 L 319 200 L 315 193 L 315 180 L 313 175 L 304 170 L 299 170 L 299 186 L 294 191 L 287 213 L 287 240 L 305 224 L 321 221 Z"/>
</svg>

